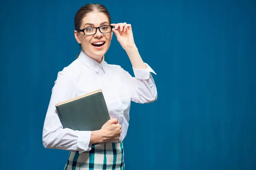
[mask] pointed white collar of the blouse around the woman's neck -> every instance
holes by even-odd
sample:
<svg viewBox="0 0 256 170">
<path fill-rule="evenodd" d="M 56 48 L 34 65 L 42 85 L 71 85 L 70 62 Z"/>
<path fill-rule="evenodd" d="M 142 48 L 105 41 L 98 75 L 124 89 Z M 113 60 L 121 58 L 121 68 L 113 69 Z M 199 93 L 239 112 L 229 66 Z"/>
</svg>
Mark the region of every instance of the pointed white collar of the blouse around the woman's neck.
<svg viewBox="0 0 256 170">
<path fill-rule="evenodd" d="M 99 72 L 99 68 L 102 65 L 102 69 L 103 71 L 105 68 L 105 60 L 104 60 L 105 56 L 103 56 L 102 58 L 102 62 L 96 62 L 94 59 L 92 59 L 91 57 L 87 56 L 86 54 L 84 54 L 83 51 L 80 52 L 78 59 L 84 63 L 84 65 L 86 65 L 87 67 L 89 67 L 90 69 Z"/>
</svg>

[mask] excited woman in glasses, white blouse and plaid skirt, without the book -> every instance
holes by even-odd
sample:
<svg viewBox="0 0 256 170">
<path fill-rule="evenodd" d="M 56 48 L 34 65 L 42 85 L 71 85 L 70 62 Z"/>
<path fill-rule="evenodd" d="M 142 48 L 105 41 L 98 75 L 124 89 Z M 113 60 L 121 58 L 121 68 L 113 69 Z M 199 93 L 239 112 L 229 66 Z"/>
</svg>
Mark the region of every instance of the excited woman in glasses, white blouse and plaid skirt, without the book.
<svg viewBox="0 0 256 170">
<path fill-rule="evenodd" d="M 128 130 L 131 101 L 148 103 L 157 99 L 150 73 L 154 71 L 140 57 L 131 24 L 111 24 L 105 6 L 82 6 L 75 16 L 75 29 L 81 52 L 58 73 L 52 88 L 43 129 L 44 147 L 70 150 L 65 170 L 124 169 L 122 142 Z M 104 61 L 113 32 L 131 60 L 135 77 L 119 65 Z M 102 89 L 111 119 L 96 131 L 63 128 L 55 104 L 96 89 Z"/>
</svg>

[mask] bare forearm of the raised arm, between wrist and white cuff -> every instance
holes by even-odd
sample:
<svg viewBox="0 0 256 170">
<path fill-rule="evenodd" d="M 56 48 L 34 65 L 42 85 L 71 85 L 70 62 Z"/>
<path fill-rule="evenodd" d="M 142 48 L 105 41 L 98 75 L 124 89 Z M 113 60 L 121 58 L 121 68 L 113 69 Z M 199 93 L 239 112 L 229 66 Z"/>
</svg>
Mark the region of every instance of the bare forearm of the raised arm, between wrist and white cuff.
<svg viewBox="0 0 256 170">
<path fill-rule="evenodd" d="M 135 69 L 145 69 L 147 68 L 145 63 L 143 62 L 142 58 L 140 57 L 140 53 L 138 51 L 138 48 L 132 47 L 125 50 L 130 61 L 132 64 L 132 67 Z"/>
</svg>

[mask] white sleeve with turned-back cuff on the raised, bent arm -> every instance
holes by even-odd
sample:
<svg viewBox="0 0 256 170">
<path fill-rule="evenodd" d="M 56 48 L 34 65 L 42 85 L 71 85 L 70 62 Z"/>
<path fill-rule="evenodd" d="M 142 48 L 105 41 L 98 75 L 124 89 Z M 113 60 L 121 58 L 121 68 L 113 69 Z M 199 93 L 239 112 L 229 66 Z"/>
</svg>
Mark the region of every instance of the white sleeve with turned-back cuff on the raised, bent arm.
<svg viewBox="0 0 256 170">
<path fill-rule="evenodd" d="M 135 77 L 122 70 L 122 83 L 125 83 L 131 101 L 136 103 L 149 103 L 157 100 L 157 88 L 150 72 L 156 73 L 147 63 L 145 65 L 146 69 L 133 68 Z"/>
</svg>

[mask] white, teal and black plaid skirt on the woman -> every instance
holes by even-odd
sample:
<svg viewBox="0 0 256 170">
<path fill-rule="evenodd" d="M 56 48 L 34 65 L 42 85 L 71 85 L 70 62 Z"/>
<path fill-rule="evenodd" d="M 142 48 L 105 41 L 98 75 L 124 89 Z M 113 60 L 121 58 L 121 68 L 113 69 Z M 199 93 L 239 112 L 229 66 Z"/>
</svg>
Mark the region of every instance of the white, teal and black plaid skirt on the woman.
<svg viewBox="0 0 256 170">
<path fill-rule="evenodd" d="M 91 150 L 79 154 L 70 151 L 64 170 L 124 170 L 124 150 L 121 143 L 92 144 Z"/>
</svg>

